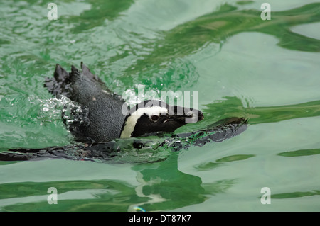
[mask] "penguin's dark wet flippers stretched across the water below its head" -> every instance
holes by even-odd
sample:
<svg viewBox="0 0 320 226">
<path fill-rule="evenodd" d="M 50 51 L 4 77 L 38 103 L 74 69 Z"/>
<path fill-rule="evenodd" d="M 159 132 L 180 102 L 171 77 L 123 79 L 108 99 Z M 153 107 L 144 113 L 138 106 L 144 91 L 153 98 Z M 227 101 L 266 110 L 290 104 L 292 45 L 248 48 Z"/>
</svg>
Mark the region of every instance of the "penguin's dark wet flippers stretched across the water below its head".
<svg viewBox="0 0 320 226">
<path fill-rule="evenodd" d="M 166 159 L 166 155 L 161 154 L 155 157 L 156 149 L 171 150 L 178 152 L 191 146 L 203 147 L 208 142 L 222 142 L 239 135 L 247 129 L 246 118 L 224 118 L 201 130 L 193 132 L 166 134 L 155 140 L 148 137 L 139 137 L 128 140 L 112 140 L 110 142 L 90 142 L 65 145 L 62 147 L 45 147 L 36 149 L 9 149 L 0 152 L 0 161 L 28 161 L 41 159 L 72 159 L 90 160 L 97 162 L 110 161 L 116 158 L 116 162 L 135 162 L 132 156 L 126 159 L 121 154 L 129 149 L 144 149 L 152 152 L 150 159 L 136 159 L 137 162 L 159 162 Z M 154 139 L 154 137 L 153 137 Z M 119 154 L 120 159 L 117 158 Z M 126 154 L 127 156 L 127 154 Z"/>
</svg>

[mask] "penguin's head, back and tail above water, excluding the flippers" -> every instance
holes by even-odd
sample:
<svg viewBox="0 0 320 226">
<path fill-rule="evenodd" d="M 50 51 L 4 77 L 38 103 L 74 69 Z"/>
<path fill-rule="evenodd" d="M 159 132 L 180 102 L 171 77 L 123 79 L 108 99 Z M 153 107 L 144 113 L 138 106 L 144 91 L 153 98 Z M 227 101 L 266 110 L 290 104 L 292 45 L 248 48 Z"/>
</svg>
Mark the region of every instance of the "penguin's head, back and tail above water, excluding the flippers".
<svg viewBox="0 0 320 226">
<path fill-rule="evenodd" d="M 82 142 L 107 142 L 117 138 L 140 137 L 156 132 L 174 132 L 186 124 L 203 120 L 203 113 L 192 108 L 170 106 L 162 101 L 138 103 L 127 114 L 125 101 L 112 93 L 102 80 L 81 62 L 80 72 L 74 66 L 68 73 L 56 64 L 54 77 L 45 87 L 54 96 L 66 96 L 80 105 L 72 114 L 75 120 L 63 121 Z"/>
</svg>

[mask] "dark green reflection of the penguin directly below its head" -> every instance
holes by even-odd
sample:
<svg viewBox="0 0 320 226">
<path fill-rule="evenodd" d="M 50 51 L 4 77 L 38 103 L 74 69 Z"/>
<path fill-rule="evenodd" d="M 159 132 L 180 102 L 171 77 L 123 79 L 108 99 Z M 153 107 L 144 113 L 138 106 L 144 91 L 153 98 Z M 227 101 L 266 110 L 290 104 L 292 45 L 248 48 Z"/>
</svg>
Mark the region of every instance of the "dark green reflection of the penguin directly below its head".
<svg viewBox="0 0 320 226">
<path fill-rule="evenodd" d="M 156 166 L 133 167 L 134 171 L 137 171 L 137 181 L 141 183 L 135 188 L 137 196 L 148 199 L 130 205 L 129 211 L 134 210 L 134 206 L 155 211 L 202 203 L 208 195 L 223 193 L 235 183 L 235 180 L 202 183 L 198 176 L 179 171 L 177 159 L 178 154 L 173 154 Z"/>
</svg>

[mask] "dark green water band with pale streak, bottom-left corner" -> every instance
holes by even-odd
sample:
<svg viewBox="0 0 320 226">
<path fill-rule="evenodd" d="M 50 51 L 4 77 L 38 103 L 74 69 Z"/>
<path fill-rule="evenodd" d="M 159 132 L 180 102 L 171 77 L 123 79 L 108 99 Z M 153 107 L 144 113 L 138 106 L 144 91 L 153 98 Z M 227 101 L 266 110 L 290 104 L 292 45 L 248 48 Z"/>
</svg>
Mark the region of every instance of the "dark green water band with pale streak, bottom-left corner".
<svg viewBox="0 0 320 226">
<path fill-rule="evenodd" d="M 58 205 L 48 205 L 50 187 L 58 190 Z M 127 211 L 139 200 L 132 186 L 107 180 L 6 183 L 0 191 L 3 211 Z"/>
</svg>

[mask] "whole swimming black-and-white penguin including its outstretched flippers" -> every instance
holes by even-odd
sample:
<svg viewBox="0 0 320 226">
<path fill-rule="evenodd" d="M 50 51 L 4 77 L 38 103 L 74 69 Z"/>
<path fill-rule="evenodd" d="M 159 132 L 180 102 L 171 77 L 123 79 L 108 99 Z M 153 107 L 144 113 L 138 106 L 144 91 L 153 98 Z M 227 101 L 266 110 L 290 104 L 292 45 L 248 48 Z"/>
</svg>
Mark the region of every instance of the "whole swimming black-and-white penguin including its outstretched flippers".
<svg viewBox="0 0 320 226">
<path fill-rule="evenodd" d="M 144 101 L 123 114 L 122 110 L 127 105 L 122 98 L 112 94 L 85 64 L 81 63 L 81 68 L 82 72 L 71 67 L 71 72 L 68 73 L 57 64 L 54 77 L 47 78 L 45 86 L 54 96 L 66 96 L 73 101 L 67 101 L 63 108 L 63 122 L 75 135 L 75 140 L 84 143 L 63 147 L 8 149 L 0 152 L 0 161 L 62 158 L 100 162 L 115 158 L 116 162 L 159 162 L 166 159 L 162 150 L 176 152 L 191 146 L 203 146 L 208 142 L 221 142 L 247 128 L 245 118 L 225 118 L 193 132 L 166 134 L 153 137 L 153 140 L 148 137 L 117 140 L 119 137 L 173 132 L 186 122 L 196 123 L 202 120 L 203 113 L 191 108 L 169 106 L 161 101 Z M 152 154 L 140 159 L 135 149 L 148 150 Z M 161 154 L 154 153 L 157 149 Z M 132 151 L 137 159 L 132 160 L 130 154 L 126 159 L 127 152 Z"/>
</svg>

